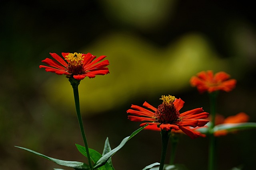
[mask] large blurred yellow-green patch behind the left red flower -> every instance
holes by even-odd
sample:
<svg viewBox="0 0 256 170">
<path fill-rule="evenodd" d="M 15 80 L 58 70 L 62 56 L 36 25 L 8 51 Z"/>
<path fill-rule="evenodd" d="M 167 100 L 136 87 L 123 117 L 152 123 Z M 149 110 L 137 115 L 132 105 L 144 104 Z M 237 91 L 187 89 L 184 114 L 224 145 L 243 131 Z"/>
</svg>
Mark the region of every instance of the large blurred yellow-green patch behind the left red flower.
<svg viewBox="0 0 256 170">
<path fill-rule="evenodd" d="M 110 110 L 138 96 L 161 96 L 182 90 L 200 70 L 230 70 L 226 66 L 228 60 L 218 57 L 200 34 L 184 35 L 166 48 L 157 48 L 134 35 L 113 33 L 82 50 L 88 51 L 108 56 L 110 74 L 81 82 L 81 108 L 86 113 Z M 71 106 L 72 111 L 73 94 L 67 89 L 67 79 L 53 75 L 45 84 L 44 93 L 56 104 L 66 98 L 63 104 L 66 108 Z"/>
</svg>

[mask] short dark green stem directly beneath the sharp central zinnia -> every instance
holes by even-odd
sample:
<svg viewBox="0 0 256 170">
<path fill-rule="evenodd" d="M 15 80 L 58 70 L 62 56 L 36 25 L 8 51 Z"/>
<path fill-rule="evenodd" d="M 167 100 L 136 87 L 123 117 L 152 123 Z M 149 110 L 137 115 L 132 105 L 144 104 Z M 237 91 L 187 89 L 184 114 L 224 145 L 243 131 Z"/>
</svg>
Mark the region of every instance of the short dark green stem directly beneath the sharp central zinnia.
<svg viewBox="0 0 256 170">
<path fill-rule="evenodd" d="M 166 157 L 166 151 L 167 151 L 168 140 L 169 140 L 170 134 L 171 134 L 171 130 L 169 130 L 169 131 L 161 130 L 162 154 L 161 154 L 161 161 L 160 161 L 159 170 L 164 169 L 164 161 L 165 161 L 165 157 Z"/>
</svg>

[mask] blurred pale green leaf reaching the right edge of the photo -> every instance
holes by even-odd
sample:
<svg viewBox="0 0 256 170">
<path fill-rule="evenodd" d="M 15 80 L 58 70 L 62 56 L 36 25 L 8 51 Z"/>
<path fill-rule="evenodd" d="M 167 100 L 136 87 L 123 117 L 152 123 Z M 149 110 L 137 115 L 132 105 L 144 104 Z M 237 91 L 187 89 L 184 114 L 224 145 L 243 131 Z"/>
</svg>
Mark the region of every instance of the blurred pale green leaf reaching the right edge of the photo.
<svg viewBox="0 0 256 170">
<path fill-rule="evenodd" d="M 250 123 L 224 123 L 220 125 L 216 125 L 213 128 L 213 132 L 226 130 L 228 132 L 230 131 L 239 131 L 239 130 L 245 130 L 245 129 L 252 129 L 256 128 L 256 123 L 250 122 Z"/>
</svg>

